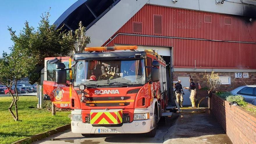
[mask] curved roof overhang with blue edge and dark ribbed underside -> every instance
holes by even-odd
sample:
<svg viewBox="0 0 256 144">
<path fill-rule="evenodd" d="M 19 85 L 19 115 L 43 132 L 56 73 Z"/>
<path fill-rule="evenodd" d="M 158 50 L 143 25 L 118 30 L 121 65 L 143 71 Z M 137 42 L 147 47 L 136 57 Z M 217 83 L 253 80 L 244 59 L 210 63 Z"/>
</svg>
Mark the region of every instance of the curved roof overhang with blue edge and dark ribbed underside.
<svg viewBox="0 0 256 144">
<path fill-rule="evenodd" d="M 70 6 L 55 22 L 57 28 L 63 26 L 63 30 L 72 30 L 78 28 L 82 21 L 89 29 L 97 20 L 106 14 L 120 0 L 78 0 Z"/>
</svg>

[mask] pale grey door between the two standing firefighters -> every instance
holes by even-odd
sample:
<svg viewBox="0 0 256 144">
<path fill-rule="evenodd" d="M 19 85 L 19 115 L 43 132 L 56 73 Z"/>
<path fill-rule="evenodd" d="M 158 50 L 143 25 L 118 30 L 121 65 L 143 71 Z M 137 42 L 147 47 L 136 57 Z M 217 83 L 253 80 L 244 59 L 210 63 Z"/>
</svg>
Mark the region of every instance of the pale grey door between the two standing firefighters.
<svg viewBox="0 0 256 144">
<path fill-rule="evenodd" d="M 190 83 L 189 83 L 189 79 L 190 77 L 178 77 L 178 80 L 181 80 L 181 85 L 182 88 L 183 87 L 189 87 Z M 183 88 L 183 91 L 185 93 L 185 95 L 183 95 L 183 105 L 191 105 L 191 101 L 189 99 L 190 96 L 190 91 L 188 89 Z"/>
</svg>

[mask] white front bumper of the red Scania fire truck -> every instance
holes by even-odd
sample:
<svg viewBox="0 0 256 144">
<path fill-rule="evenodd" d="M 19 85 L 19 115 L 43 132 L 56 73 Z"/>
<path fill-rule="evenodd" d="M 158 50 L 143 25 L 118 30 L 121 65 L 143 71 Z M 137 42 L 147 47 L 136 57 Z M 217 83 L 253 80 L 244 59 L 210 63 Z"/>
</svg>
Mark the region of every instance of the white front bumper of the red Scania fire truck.
<svg viewBox="0 0 256 144">
<path fill-rule="evenodd" d="M 142 125 L 142 122 L 146 122 Z M 93 127 L 92 124 L 83 123 L 82 121 L 71 121 L 71 130 L 78 134 L 106 134 L 99 133 L 98 129 L 116 129 L 116 133 L 107 134 L 138 134 L 150 131 L 151 119 L 148 120 L 134 120 L 131 123 L 124 123 L 121 127 Z"/>
</svg>

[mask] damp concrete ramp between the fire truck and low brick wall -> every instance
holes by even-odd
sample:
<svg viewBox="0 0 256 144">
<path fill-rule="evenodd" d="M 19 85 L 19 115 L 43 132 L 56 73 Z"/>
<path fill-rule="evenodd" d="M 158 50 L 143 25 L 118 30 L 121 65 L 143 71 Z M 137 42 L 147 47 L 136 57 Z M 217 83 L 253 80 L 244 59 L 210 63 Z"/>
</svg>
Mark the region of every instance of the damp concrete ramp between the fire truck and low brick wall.
<svg viewBox="0 0 256 144">
<path fill-rule="evenodd" d="M 211 111 L 205 113 L 182 113 L 170 135 L 165 138 L 168 144 L 232 144 L 223 128 Z M 189 110 L 183 110 L 183 112 Z"/>
</svg>

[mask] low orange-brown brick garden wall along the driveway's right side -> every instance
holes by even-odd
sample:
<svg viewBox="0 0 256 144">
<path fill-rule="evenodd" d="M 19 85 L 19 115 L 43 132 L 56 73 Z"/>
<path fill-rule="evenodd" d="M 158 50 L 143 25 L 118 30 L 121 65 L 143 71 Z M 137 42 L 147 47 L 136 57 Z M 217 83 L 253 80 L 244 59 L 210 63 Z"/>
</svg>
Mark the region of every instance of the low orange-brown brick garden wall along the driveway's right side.
<svg viewBox="0 0 256 144">
<path fill-rule="evenodd" d="M 210 98 L 210 109 L 233 144 L 256 143 L 256 115 L 216 95 Z"/>
</svg>

